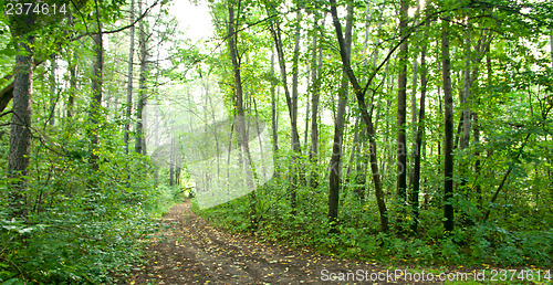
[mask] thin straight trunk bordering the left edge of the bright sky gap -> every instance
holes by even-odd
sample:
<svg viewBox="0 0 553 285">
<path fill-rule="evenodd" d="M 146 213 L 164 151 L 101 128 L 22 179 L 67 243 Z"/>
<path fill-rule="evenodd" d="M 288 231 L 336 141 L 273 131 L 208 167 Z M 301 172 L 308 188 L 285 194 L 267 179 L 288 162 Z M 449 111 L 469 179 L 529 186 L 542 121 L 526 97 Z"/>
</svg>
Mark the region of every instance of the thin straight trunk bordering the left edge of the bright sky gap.
<svg viewBox="0 0 553 285">
<path fill-rule="evenodd" d="M 138 4 L 142 13 L 142 2 Z M 148 74 L 148 49 L 146 35 L 148 28 L 144 20 L 139 23 L 139 46 L 140 46 L 140 78 L 138 80 L 138 104 L 136 105 L 136 130 L 135 130 L 135 152 L 146 155 L 146 139 L 144 137 L 144 113 L 146 107 L 146 80 Z"/>
</svg>

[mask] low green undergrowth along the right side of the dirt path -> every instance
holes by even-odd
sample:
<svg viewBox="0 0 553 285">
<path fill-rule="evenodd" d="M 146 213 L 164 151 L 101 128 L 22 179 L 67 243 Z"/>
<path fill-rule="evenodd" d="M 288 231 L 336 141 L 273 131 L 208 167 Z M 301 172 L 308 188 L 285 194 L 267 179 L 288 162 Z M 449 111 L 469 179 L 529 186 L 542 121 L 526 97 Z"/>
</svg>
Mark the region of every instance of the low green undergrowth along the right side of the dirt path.
<svg viewBox="0 0 553 285">
<path fill-rule="evenodd" d="M 340 220 L 335 232 L 327 221 L 327 188 L 299 188 L 295 213 L 290 208 L 286 183 L 273 179 L 255 191 L 259 221 L 251 224 L 249 197 L 196 212 L 215 225 L 231 232 L 255 235 L 260 240 L 293 246 L 314 247 L 333 256 L 378 261 L 389 265 L 421 266 L 539 266 L 550 268 L 553 256 L 551 217 L 526 218 L 511 223 L 500 219 L 473 224 L 456 224 L 445 235 L 441 208 L 421 211 L 419 232 L 406 232 L 395 220 L 393 203 L 390 230 L 382 233 L 376 201 L 359 202 L 353 193 L 341 196 Z"/>
</svg>

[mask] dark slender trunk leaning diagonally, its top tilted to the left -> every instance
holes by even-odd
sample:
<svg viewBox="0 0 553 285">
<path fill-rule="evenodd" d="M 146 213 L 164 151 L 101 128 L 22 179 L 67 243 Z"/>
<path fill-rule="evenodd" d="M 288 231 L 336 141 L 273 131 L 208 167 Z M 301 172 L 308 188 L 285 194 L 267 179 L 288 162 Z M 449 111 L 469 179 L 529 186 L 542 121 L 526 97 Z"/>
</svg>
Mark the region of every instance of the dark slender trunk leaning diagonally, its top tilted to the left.
<svg viewBox="0 0 553 285">
<path fill-rule="evenodd" d="M 369 136 L 369 148 L 371 148 L 371 169 L 373 171 L 373 182 L 375 186 L 375 196 L 376 196 L 376 202 L 378 204 L 378 210 L 380 213 L 380 230 L 383 232 L 388 232 L 388 214 L 386 210 L 386 203 L 384 201 L 384 192 L 383 192 L 383 186 L 380 181 L 380 172 L 378 170 L 378 159 L 376 156 L 376 131 L 373 125 L 373 119 L 371 115 L 368 114 L 367 110 L 367 104 L 365 102 L 365 91 L 364 88 L 361 87 L 359 83 L 357 82 L 357 77 L 355 77 L 355 74 L 353 73 L 351 62 L 349 62 L 349 56 L 347 55 L 347 48 L 344 41 L 344 36 L 342 33 L 342 24 L 340 23 L 338 20 L 338 13 L 336 9 L 336 1 L 335 0 L 330 0 L 331 3 L 331 13 L 332 13 L 332 19 L 334 23 L 334 28 L 336 30 L 336 36 L 340 44 L 340 56 L 342 59 L 342 63 L 344 65 L 344 71 L 347 74 L 347 77 L 349 78 L 349 83 L 352 84 L 353 89 L 355 91 L 355 97 L 357 98 L 357 105 L 359 107 L 359 110 L 362 113 L 362 118 L 367 127 L 368 130 L 368 136 Z"/>
</svg>

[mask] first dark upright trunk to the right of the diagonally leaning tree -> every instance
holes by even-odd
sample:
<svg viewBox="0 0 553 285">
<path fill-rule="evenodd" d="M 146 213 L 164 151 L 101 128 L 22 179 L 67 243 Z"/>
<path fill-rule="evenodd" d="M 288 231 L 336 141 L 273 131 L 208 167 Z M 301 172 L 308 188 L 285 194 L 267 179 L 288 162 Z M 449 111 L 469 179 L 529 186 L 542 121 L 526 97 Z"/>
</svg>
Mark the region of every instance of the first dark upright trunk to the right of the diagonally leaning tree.
<svg viewBox="0 0 553 285">
<path fill-rule="evenodd" d="M 401 0 L 399 12 L 399 34 L 405 36 L 407 29 L 407 0 Z M 408 43 L 405 41 L 399 46 L 398 63 L 399 74 L 397 77 L 397 196 L 400 203 L 407 199 L 407 136 L 406 136 L 406 114 L 407 114 L 407 59 Z"/>
</svg>

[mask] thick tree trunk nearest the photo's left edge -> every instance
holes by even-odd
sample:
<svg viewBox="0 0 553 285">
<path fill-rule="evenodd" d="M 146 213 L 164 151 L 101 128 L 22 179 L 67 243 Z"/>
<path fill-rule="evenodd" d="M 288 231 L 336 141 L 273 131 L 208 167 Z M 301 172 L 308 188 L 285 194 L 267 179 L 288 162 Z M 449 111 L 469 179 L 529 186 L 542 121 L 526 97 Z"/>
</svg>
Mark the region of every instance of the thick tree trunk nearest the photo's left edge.
<svg viewBox="0 0 553 285">
<path fill-rule="evenodd" d="M 11 184 L 10 208 L 12 217 L 27 219 L 27 188 L 29 157 L 31 154 L 31 123 L 32 123 L 32 76 L 34 64 L 34 36 L 30 33 L 34 29 L 34 14 L 18 15 L 12 19 L 11 33 L 18 42 L 15 68 L 13 80 L 13 106 L 11 116 L 10 149 L 8 157 L 8 176 L 19 178 Z M 27 33 L 27 34 L 25 34 Z M 24 52 L 23 52 L 24 51 Z"/>
</svg>

